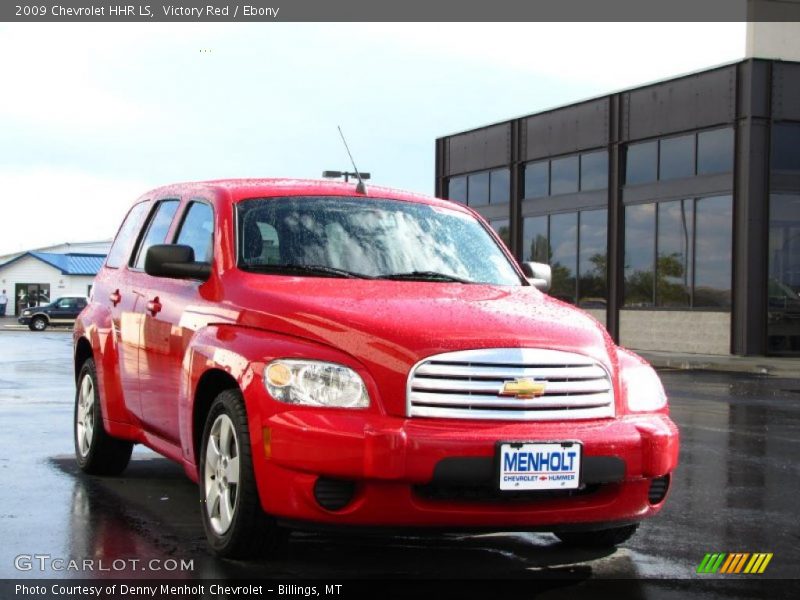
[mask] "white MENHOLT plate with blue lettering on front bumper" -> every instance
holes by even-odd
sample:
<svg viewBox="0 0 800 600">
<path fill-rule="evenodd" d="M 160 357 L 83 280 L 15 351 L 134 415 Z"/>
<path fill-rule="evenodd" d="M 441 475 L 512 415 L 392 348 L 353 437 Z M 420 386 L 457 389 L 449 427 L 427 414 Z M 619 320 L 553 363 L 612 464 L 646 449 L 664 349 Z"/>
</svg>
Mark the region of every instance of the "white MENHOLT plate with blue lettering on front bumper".
<svg viewBox="0 0 800 600">
<path fill-rule="evenodd" d="M 578 442 L 503 442 L 499 452 L 501 490 L 569 490 L 580 485 Z"/>
</svg>

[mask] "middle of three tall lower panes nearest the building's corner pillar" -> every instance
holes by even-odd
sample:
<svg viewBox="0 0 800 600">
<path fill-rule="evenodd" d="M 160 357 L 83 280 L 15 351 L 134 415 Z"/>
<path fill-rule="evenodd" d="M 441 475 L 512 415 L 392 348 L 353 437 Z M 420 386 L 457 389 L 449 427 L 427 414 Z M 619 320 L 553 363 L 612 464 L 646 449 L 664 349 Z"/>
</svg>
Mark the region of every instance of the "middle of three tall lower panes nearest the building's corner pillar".
<svg viewBox="0 0 800 600">
<path fill-rule="evenodd" d="M 692 200 L 658 205 L 656 306 L 690 305 L 693 221 Z"/>
</svg>

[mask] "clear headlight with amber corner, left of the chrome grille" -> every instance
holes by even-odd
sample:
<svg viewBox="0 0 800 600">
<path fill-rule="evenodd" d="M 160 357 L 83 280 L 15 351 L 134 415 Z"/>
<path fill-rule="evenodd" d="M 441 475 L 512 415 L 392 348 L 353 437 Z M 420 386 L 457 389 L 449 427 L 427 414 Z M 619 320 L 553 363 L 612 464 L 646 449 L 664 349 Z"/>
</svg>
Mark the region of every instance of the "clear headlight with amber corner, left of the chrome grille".
<svg viewBox="0 0 800 600">
<path fill-rule="evenodd" d="M 289 404 L 365 408 L 364 380 L 349 367 L 316 360 L 280 359 L 264 368 L 264 385 L 276 400 Z"/>
</svg>

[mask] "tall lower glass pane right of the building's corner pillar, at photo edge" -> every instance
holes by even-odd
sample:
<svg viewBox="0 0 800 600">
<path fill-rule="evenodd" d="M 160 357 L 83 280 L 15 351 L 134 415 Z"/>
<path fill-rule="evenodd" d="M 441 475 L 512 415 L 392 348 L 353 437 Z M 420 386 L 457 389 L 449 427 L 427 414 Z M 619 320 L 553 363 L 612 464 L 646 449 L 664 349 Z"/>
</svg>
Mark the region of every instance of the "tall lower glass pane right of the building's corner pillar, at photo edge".
<svg viewBox="0 0 800 600">
<path fill-rule="evenodd" d="M 800 194 L 770 197 L 767 298 L 769 352 L 800 355 Z"/>
</svg>

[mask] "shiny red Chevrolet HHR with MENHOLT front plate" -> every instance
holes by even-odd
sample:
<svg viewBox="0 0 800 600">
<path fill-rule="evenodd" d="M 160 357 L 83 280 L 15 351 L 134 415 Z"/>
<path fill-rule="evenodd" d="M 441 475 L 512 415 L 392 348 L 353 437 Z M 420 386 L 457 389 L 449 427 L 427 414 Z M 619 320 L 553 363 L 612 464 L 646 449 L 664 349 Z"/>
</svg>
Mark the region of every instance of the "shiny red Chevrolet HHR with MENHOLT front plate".
<svg viewBox="0 0 800 600">
<path fill-rule="evenodd" d="M 199 484 L 222 556 L 292 527 L 552 531 L 657 513 L 678 432 L 653 369 L 465 206 L 295 180 L 180 184 L 125 218 L 75 326 L 75 451 Z"/>
</svg>

